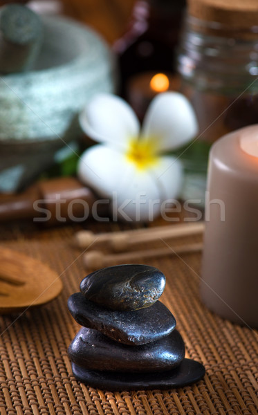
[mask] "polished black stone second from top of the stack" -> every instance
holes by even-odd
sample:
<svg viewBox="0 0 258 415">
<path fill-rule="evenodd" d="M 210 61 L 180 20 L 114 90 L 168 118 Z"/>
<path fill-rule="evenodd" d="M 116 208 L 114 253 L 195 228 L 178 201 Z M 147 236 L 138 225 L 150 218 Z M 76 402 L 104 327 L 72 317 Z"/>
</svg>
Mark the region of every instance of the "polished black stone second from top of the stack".
<svg viewBox="0 0 258 415">
<path fill-rule="evenodd" d="M 141 310 L 114 311 L 75 293 L 68 299 L 68 308 L 81 326 L 96 329 L 124 344 L 154 342 L 171 333 L 176 326 L 174 316 L 160 301 Z"/>
</svg>

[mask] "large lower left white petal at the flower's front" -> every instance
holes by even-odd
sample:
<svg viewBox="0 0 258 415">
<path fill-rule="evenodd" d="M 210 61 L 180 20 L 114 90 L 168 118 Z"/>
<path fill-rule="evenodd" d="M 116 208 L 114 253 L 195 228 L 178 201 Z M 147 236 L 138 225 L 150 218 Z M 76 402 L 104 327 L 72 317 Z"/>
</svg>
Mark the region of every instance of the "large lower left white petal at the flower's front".
<svg viewBox="0 0 258 415">
<path fill-rule="evenodd" d="M 78 176 L 104 198 L 113 199 L 113 220 L 151 221 L 160 214 L 160 190 L 149 170 L 138 169 L 125 154 L 106 145 L 86 150 Z"/>
</svg>

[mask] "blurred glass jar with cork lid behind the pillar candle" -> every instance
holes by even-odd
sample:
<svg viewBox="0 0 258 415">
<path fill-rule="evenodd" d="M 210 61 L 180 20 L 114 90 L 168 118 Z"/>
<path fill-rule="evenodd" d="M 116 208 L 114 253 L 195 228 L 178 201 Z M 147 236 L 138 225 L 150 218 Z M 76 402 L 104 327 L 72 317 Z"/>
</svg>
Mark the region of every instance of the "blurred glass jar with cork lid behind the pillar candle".
<svg viewBox="0 0 258 415">
<path fill-rule="evenodd" d="M 203 158 L 193 157 L 197 147 L 209 147 L 225 133 L 258 123 L 258 1 L 232 3 L 190 0 L 178 49 L 181 92 L 199 121 L 199 136 L 182 156 L 182 196 L 201 197 L 201 203 L 208 151 Z"/>
</svg>

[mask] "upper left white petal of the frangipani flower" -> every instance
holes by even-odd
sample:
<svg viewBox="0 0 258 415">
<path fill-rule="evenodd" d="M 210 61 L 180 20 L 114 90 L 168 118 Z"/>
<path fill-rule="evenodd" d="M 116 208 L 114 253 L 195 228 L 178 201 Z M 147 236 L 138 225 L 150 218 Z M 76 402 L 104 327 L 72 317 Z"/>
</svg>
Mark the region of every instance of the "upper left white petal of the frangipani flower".
<svg viewBox="0 0 258 415">
<path fill-rule="evenodd" d="M 116 95 L 102 93 L 84 107 L 79 116 L 80 126 L 93 140 L 125 147 L 131 137 L 137 137 L 140 124 L 131 107 Z"/>
</svg>

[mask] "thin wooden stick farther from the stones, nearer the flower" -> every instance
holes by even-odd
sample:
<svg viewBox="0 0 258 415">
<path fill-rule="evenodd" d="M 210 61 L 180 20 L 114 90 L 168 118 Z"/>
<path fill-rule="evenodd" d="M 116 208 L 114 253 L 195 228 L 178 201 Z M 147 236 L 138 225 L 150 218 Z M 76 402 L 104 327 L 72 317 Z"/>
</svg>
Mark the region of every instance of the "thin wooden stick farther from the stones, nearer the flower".
<svg viewBox="0 0 258 415">
<path fill-rule="evenodd" d="M 136 241 L 140 242 L 140 237 L 143 238 L 142 241 L 149 241 L 151 238 L 153 238 L 151 239 L 153 241 L 158 238 L 173 238 L 198 234 L 202 233 L 203 230 L 203 222 L 180 223 L 178 225 L 156 226 L 152 228 L 122 230 L 119 232 L 106 232 L 100 234 L 94 234 L 90 230 L 82 230 L 75 234 L 75 245 L 79 248 L 89 248 L 92 243 L 94 243 L 94 245 L 97 243 L 107 243 L 110 248 L 116 249 L 119 244 L 122 246 L 122 241 L 127 244 L 129 239 L 133 240 L 133 243 L 136 243 Z M 145 237 L 143 237 L 143 235 L 145 235 Z M 158 237 L 152 235 L 158 235 Z M 119 239 L 120 241 L 118 242 Z M 127 239 L 126 242 L 125 239 Z"/>
</svg>

